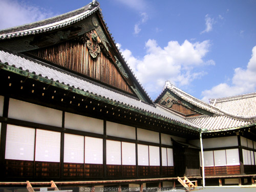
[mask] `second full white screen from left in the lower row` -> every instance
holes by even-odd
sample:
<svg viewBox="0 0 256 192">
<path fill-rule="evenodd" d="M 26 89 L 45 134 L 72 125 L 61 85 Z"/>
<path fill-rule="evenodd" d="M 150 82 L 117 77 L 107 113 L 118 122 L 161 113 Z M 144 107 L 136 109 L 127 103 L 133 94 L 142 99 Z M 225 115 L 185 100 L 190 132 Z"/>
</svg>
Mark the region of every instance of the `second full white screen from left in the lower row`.
<svg viewBox="0 0 256 192">
<path fill-rule="evenodd" d="M 60 161 L 60 133 L 36 130 L 36 161 Z"/>
</svg>

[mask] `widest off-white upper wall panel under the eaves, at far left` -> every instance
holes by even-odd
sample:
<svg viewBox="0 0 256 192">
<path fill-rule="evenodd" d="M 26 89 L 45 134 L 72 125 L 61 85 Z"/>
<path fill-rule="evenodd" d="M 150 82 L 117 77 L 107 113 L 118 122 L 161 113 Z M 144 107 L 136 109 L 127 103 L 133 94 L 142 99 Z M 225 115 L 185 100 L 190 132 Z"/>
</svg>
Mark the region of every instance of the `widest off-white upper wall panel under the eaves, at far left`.
<svg viewBox="0 0 256 192">
<path fill-rule="evenodd" d="M 9 101 L 8 117 L 59 127 L 62 125 L 62 111 L 16 99 Z"/>
</svg>

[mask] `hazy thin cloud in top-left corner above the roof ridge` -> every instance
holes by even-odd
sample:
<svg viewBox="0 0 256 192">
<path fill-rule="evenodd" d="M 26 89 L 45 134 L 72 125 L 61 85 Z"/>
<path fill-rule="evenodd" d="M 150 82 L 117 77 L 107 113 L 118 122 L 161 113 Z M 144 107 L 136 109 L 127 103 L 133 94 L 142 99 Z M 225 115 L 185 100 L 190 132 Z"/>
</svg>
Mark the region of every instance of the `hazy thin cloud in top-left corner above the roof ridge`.
<svg viewBox="0 0 256 192">
<path fill-rule="evenodd" d="M 24 25 L 53 16 L 50 11 L 28 5 L 25 2 L 1 0 L 0 7 L 0 29 Z"/>
</svg>

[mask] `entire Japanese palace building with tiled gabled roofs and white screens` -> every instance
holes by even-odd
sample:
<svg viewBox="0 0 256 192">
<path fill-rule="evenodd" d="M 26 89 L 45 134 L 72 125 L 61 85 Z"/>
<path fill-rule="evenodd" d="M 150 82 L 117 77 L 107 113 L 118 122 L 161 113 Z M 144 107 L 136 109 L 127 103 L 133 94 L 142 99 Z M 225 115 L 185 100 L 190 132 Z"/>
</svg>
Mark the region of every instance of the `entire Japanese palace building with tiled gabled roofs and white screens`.
<svg viewBox="0 0 256 192">
<path fill-rule="evenodd" d="M 1 30 L 0 78 L 0 186 L 254 183 L 256 93 L 152 101 L 97 1 Z"/>
</svg>

